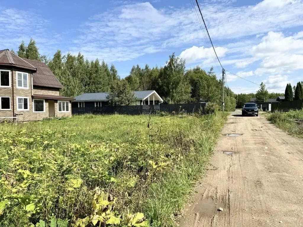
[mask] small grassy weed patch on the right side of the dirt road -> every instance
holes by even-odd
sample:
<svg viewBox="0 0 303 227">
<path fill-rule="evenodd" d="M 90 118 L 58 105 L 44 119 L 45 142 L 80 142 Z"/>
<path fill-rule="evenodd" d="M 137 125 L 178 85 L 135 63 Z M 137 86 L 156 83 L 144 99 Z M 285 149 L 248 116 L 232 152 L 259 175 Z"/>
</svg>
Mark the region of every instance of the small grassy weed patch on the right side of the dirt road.
<svg viewBox="0 0 303 227">
<path fill-rule="evenodd" d="M 289 112 L 275 112 L 267 116 L 267 119 L 277 127 L 284 129 L 295 137 L 303 138 L 303 122 L 296 123 L 292 120 L 303 120 L 303 110 L 290 110 Z"/>
</svg>

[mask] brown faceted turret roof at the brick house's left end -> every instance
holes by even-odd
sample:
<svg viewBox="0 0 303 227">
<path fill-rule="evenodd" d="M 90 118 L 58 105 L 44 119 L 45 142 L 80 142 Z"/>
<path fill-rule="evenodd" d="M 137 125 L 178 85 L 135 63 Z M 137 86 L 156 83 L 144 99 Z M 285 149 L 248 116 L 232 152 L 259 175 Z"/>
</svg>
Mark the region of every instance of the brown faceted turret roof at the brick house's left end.
<svg viewBox="0 0 303 227">
<path fill-rule="evenodd" d="M 34 72 L 37 71 L 36 67 L 30 64 L 27 59 L 18 57 L 8 49 L 0 51 L 0 64 L 25 68 Z"/>
</svg>

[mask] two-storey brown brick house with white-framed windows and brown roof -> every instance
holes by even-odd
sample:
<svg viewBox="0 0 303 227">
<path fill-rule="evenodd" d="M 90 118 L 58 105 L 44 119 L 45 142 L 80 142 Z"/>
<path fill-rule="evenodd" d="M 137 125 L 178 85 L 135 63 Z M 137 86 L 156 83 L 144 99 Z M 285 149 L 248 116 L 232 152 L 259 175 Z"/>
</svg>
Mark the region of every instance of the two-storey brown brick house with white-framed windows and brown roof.
<svg viewBox="0 0 303 227">
<path fill-rule="evenodd" d="M 46 64 L 0 51 L 0 121 L 42 120 L 72 116 L 70 97 L 60 96 L 62 84 Z"/>
</svg>

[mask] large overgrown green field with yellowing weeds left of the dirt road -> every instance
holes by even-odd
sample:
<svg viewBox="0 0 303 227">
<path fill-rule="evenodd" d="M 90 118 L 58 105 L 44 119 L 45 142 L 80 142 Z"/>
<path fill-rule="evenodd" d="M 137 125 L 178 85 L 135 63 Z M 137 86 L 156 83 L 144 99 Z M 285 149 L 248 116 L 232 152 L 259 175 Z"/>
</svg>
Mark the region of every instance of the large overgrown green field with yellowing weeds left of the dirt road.
<svg viewBox="0 0 303 227">
<path fill-rule="evenodd" d="M 0 226 L 173 226 L 226 114 L 0 125 Z"/>
</svg>

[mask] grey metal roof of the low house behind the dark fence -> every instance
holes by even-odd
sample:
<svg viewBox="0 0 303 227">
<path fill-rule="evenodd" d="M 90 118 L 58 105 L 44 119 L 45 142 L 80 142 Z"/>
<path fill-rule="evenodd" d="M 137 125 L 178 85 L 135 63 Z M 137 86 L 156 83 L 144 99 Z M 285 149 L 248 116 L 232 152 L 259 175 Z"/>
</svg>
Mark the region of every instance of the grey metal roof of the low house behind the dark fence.
<svg viewBox="0 0 303 227">
<path fill-rule="evenodd" d="M 144 99 L 151 95 L 155 90 L 142 90 L 135 91 L 136 99 Z M 84 93 L 75 97 L 75 101 L 105 101 L 108 96 L 108 92 L 102 93 Z"/>
</svg>

